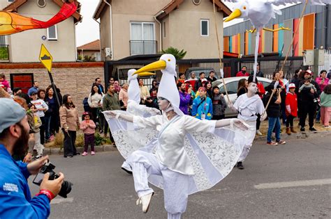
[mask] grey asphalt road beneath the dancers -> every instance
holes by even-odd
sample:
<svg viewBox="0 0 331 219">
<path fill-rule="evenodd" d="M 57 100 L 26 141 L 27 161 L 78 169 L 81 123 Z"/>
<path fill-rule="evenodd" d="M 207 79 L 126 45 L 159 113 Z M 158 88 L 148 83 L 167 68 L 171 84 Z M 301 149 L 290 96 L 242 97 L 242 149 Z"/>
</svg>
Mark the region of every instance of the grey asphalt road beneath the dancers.
<svg viewBox="0 0 331 219">
<path fill-rule="evenodd" d="M 256 141 L 245 170 L 235 168 L 214 188 L 190 195 L 182 218 L 331 218 L 330 141 L 330 133 L 280 146 Z M 52 201 L 50 218 L 166 218 L 159 188 L 147 214 L 135 205 L 133 178 L 120 169 L 118 152 L 50 159 L 74 184 L 67 199 Z"/>
</svg>

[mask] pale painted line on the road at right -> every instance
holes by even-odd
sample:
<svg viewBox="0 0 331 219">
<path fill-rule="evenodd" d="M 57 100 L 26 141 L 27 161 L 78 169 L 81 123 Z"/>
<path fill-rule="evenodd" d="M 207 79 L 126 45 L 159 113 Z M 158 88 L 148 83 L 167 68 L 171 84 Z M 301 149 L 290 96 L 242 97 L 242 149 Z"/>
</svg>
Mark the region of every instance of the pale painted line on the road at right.
<svg viewBox="0 0 331 219">
<path fill-rule="evenodd" d="M 281 181 L 270 184 L 258 184 L 254 188 L 286 188 L 286 187 L 297 187 L 297 186 L 321 186 L 331 184 L 331 179 L 314 179 L 314 180 L 302 180 L 302 181 Z"/>
</svg>

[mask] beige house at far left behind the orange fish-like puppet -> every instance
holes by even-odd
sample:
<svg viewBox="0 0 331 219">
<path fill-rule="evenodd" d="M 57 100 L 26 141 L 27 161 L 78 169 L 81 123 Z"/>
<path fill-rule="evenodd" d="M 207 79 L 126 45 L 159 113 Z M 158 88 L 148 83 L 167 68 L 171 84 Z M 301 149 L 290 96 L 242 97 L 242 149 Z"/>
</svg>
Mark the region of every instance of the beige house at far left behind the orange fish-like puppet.
<svg viewBox="0 0 331 219">
<path fill-rule="evenodd" d="M 10 63 L 38 62 L 41 44 L 45 44 L 53 56 L 54 61 L 75 61 L 75 24 L 82 20 L 80 3 L 78 11 L 64 22 L 51 26 L 48 29 L 35 29 L 0 36 L 0 61 Z M 63 5 L 61 0 L 0 0 L 3 10 L 20 13 L 26 17 L 33 17 L 47 21 L 59 12 Z M 3 54 L 7 51 L 7 54 Z"/>
</svg>

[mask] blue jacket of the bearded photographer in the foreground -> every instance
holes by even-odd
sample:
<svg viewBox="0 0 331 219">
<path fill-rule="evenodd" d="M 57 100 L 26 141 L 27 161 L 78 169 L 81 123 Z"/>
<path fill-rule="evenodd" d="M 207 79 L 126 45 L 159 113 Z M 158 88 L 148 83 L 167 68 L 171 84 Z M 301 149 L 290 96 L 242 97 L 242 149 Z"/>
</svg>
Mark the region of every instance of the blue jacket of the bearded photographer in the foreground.
<svg viewBox="0 0 331 219">
<path fill-rule="evenodd" d="M 27 163 L 14 161 L 0 145 L 0 218 L 47 218 L 50 201 L 46 195 L 31 198 Z"/>
</svg>

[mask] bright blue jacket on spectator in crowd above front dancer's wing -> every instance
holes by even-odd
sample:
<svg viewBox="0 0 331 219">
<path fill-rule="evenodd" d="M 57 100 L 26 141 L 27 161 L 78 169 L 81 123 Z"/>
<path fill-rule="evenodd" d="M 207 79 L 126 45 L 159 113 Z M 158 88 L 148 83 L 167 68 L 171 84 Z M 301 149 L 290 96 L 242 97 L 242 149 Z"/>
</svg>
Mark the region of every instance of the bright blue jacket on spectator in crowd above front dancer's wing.
<svg viewBox="0 0 331 219">
<path fill-rule="evenodd" d="M 212 99 L 205 97 L 205 100 L 202 103 L 201 101 L 200 96 L 193 100 L 192 116 L 201 120 L 201 115 L 205 113 L 205 119 L 212 120 Z"/>
</svg>

